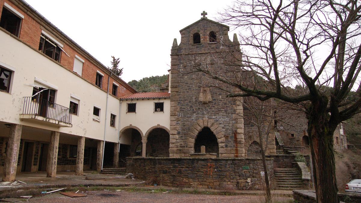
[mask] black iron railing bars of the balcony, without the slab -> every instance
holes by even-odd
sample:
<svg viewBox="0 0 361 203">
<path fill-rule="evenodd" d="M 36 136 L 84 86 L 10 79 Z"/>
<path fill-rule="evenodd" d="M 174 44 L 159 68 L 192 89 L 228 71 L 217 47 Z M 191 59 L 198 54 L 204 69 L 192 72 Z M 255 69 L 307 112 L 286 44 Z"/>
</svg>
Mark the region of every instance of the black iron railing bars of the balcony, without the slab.
<svg viewBox="0 0 361 203">
<path fill-rule="evenodd" d="M 24 97 L 23 115 L 38 115 L 71 124 L 70 108 L 39 97 Z"/>
</svg>

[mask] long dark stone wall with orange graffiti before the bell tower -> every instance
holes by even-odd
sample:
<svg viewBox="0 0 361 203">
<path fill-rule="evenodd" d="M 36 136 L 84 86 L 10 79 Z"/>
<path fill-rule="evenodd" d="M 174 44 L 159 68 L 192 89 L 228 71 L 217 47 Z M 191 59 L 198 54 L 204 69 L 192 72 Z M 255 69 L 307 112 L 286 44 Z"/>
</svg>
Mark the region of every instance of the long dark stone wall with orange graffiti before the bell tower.
<svg viewBox="0 0 361 203">
<path fill-rule="evenodd" d="M 266 161 L 273 182 L 273 159 Z M 257 190 L 264 182 L 262 160 L 257 158 L 127 157 L 126 170 L 163 186 Z"/>
</svg>

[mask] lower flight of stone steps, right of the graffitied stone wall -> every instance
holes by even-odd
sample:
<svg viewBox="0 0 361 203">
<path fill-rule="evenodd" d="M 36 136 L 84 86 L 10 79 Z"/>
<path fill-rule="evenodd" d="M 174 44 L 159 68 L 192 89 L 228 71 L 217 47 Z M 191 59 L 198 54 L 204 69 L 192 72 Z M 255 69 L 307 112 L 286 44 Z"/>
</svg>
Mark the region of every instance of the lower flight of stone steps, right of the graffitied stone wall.
<svg viewBox="0 0 361 203">
<path fill-rule="evenodd" d="M 301 190 L 301 174 L 294 168 L 275 168 L 274 176 L 277 190 Z"/>
</svg>

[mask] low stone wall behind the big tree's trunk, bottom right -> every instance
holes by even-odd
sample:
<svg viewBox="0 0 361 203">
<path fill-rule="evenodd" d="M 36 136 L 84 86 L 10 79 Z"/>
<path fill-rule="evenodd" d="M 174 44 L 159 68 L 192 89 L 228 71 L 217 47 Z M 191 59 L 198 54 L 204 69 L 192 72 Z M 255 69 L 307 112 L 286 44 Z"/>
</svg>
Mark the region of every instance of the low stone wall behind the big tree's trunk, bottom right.
<svg viewBox="0 0 361 203">
<path fill-rule="evenodd" d="M 341 202 L 361 202 L 361 195 L 338 194 Z M 312 190 L 293 190 L 293 200 L 302 203 L 316 202 L 316 193 Z"/>
</svg>

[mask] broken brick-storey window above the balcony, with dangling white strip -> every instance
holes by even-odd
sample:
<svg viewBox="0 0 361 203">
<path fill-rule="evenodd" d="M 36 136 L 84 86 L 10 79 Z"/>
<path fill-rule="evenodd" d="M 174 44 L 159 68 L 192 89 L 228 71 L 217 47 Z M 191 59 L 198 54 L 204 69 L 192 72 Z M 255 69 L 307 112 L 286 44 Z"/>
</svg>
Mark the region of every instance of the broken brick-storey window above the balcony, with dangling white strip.
<svg viewBox="0 0 361 203">
<path fill-rule="evenodd" d="M 60 62 L 61 48 L 44 34 L 40 35 L 39 51 Z"/>
</svg>

